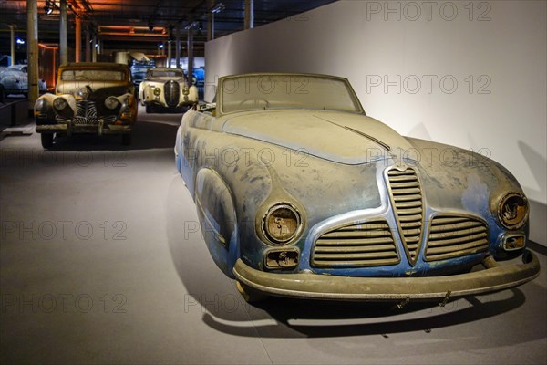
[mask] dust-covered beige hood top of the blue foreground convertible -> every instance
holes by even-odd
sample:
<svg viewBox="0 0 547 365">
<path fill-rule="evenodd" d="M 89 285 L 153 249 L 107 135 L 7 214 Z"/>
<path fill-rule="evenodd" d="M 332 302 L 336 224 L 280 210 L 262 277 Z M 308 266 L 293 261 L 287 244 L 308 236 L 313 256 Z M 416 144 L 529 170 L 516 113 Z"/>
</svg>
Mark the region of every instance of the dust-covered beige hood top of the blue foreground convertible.
<svg viewBox="0 0 547 365">
<path fill-rule="evenodd" d="M 412 145 L 362 114 L 325 110 L 265 110 L 227 116 L 222 131 L 350 165 L 384 160 Z M 402 149 L 402 150 L 401 150 Z"/>
</svg>

